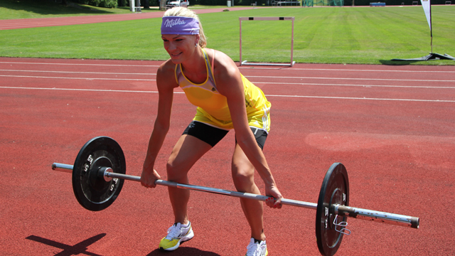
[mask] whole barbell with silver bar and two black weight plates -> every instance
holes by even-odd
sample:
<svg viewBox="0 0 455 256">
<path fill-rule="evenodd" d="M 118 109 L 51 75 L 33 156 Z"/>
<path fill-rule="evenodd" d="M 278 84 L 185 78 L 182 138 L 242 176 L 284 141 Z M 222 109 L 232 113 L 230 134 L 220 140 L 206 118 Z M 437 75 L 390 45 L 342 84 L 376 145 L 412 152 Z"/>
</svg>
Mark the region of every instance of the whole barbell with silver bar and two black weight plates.
<svg viewBox="0 0 455 256">
<path fill-rule="evenodd" d="M 126 164 L 122 148 L 109 137 L 90 139 L 80 149 L 73 166 L 53 163 L 52 169 L 73 174 L 73 191 L 77 201 L 82 207 L 93 211 L 104 210 L 114 203 L 122 190 L 124 180 L 141 181 L 139 176 L 125 174 Z M 172 181 L 156 180 L 155 184 L 257 201 L 266 201 L 269 198 L 269 196 L 252 193 Z M 316 240 L 321 255 L 335 255 L 341 245 L 343 235 L 350 235 L 350 230 L 346 228 L 347 217 L 419 228 L 419 218 L 417 217 L 354 208 L 348 206 L 348 203 L 348 173 L 341 163 L 332 164 L 328 169 L 322 182 L 317 204 L 282 198 L 283 205 L 316 210 Z"/>
</svg>

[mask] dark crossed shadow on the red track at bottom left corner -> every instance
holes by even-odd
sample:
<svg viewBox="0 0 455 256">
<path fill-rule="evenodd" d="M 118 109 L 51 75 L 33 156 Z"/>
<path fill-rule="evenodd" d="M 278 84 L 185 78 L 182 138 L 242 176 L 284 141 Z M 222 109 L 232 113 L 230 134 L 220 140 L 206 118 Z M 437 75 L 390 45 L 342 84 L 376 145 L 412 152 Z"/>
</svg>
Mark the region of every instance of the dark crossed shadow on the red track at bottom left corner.
<svg viewBox="0 0 455 256">
<path fill-rule="evenodd" d="M 56 242 L 53 240 L 49 240 L 47 238 L 40 238 L 36 235 L 28 236 L 26 239 L 32 240 L 35 242 L 41 242 L 45 245 L 53 246 L 62 249 L 62 252 L 58 252 L 55 256 L 70 256 L 70 255 L 90 255 L 90 256 L 101 256 L 97 255 L 93 252 L 87 252 L 87 247 L 94 244 L 101 238 L 104 238 L 106 233 L 101 233 L 100 235 L 95 235 L 92 238 L 88 238 L 83 240 L 82 242 L 78 242 L 75 245 L 65 245 L 61 242 Z"/>
</svg>

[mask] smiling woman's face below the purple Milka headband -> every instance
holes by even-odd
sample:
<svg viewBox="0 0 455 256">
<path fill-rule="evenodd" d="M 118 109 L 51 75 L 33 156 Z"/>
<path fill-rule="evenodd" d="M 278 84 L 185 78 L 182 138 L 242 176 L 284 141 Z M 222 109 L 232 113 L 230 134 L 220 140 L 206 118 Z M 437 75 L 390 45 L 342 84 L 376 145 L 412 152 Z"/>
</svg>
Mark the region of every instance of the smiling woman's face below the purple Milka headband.
<svg viewBox="0 0 455 256">
<path fill-rule="evenodd" d="M 193 55 L 196 50 L 196 43 L 199 42 L 199 35 L 161 35 L 164 43 L 164 49 L 171 56 L 175 64 L 183 63 Z"/>
</svg>

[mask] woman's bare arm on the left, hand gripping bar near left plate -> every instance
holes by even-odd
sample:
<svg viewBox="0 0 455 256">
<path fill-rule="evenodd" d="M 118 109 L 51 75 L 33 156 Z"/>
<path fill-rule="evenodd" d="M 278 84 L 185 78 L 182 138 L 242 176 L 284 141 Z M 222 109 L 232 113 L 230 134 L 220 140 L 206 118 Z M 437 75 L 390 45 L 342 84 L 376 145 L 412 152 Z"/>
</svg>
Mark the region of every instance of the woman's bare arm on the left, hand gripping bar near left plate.
<svg viewBox="0 0 455 256">
<path fill-rule="evenodd" d="M 174 75 L 174 67 L 175 65 L 171 61 L 166 61 L 156 73 L 156 86 L 158 87 L 159 95 L 158 112 L 141 174 L 141 184 L 147 188 L 154 188 L 156 186 L 155 181 L 161 179 L 158 172 L 154 170 L 154 164 L 171 122 L 173 89 L 178 87 Z"/>
</svg>

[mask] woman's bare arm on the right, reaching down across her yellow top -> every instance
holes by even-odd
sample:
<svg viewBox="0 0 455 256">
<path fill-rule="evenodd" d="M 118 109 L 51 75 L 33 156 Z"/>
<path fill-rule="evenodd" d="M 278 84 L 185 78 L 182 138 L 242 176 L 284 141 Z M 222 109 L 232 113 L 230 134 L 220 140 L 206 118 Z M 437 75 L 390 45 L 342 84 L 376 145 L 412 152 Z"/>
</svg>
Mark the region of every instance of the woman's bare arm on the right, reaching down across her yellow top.
<svg viewBox="0 0 455 256">
<path fill-rule="evenodd" d="M 262 154 L 261 148 L 257 145 L 255 136 L 248 124 L 245 92 L 237 65 L 227 55 L 217 52 L 214 76 L 218 91 L 228 99 L 228 107 L 237 143 L 264 181 L 266 195 L 277 199 L 275 202 L 266 201 L 267 206 L 281 208 L 282 194 L 277 188 L 272 171 L 270 171 L 264 154 Z"/>
</svg>

